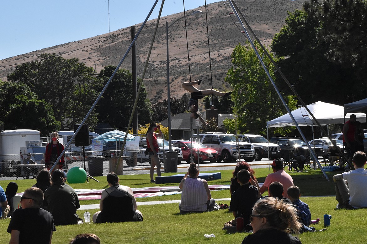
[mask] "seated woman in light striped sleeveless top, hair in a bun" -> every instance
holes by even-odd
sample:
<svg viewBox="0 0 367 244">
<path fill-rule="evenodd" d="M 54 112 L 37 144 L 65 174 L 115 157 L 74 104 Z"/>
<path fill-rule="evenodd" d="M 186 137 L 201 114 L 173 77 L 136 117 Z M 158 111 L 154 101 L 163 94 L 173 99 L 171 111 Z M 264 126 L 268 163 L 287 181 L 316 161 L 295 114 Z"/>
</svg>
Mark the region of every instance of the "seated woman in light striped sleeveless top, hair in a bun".
<svg viewBox="0 0 367 244">
<path fill-rule="evenodd" d="M 215 200 L 211 198 L 209 185 L 206 180 L 200 179 L 199 169 L 191 163 L 178 186 L 181 190 L 181 203 L 178 208 L 181 214 L 192 212 L 212 211 Z"/>
</svg>

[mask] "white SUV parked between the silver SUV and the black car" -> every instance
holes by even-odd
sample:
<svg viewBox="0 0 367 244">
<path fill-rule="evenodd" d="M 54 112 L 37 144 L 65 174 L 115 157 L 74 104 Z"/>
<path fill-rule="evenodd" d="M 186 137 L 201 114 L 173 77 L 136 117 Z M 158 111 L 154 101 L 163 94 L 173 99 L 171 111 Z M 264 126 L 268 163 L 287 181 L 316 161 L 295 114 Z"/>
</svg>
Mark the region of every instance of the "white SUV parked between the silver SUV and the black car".
<svg viewBox="0 0 367 244">
<path fill-rule="evenodd" d="M 243 134 L 238 135 L 238 139 L 240 139 L 243 142 L 248 142 L 254 145 L 255 161 L 260 161 L 262 158 L 267 157 L 269 157 L 269 159 L 280 158 L 279 145 L 275 143 L 269 143 L 268 140 L 264 138 L 264 136 L 254 134 Z"/>
</svg>

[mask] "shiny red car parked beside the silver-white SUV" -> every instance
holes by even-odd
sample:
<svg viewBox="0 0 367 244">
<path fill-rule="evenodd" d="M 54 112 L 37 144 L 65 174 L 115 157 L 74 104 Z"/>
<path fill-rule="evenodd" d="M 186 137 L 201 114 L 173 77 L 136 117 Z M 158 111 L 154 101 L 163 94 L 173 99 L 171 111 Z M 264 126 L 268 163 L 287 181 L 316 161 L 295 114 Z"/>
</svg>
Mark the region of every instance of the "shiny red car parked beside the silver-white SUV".
<svg viewBox="0 0 367 244">
<path fill-rule="evenodd" d="M 173 144 L 175 147 L 179 147 L 182 150 L 182 160 L 188 162 L 197 162 L 197 149 L 199 149 L 200 161 L 217 161 L 218 152 L 214 149 L 206 147 L 204 144 L 180 141 Z"/>
</svg>

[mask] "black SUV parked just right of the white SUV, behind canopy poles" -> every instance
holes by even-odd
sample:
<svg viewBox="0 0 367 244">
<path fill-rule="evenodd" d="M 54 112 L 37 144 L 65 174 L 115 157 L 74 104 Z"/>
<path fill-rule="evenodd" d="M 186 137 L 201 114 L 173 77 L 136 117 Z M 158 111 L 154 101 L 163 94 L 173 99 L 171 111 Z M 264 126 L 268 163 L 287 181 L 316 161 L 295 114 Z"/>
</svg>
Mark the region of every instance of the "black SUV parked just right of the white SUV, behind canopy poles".
<svg viewBox="0 0 367 244">
<path fill-rule="evenodd" d="M 306 143 L 300 139 L 278 139 L 275 141 L 280 146 L 280 155 L 285 161 L 289 161 L 289 152 L 292 151 L 294 154 L 307 155 L 309 156 L 309 150 Z M 316 155 L 322 148 L 316 148 Z"/>
</svg>

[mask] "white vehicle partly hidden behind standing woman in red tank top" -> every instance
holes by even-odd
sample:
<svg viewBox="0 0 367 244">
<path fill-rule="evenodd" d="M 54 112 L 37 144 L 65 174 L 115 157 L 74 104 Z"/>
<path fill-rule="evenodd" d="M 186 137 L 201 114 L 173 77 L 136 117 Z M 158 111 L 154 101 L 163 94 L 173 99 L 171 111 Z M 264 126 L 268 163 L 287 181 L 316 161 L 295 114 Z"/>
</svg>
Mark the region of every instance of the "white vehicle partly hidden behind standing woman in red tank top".
<svg viewBox="0 0 367 244">
<path fill-rule="evenodd" d="M 161 162 L 163 162 L 163 152 L 168 151 L 168 142 L 166 140 L 157 138 L 158 141 L 158 156 Z M 139 153 L 137 153 L 137 161 L 138 162 L 149 162 L 150 164 L 150 157 L 149 155 L 145 155 L 144 151 L 148 148 L 148 145 L 146 144 L 146 138 L 141 139 L 139 142 Z M 172 146 L 172 150 L 177 151 L 177 164 L 181 164 L 182 161 L 182 150 L 179 147 Z M 131 152 L 127 151 L 125 156 L 131 156 Z"/>
</svg>

